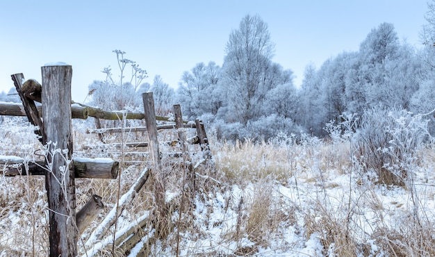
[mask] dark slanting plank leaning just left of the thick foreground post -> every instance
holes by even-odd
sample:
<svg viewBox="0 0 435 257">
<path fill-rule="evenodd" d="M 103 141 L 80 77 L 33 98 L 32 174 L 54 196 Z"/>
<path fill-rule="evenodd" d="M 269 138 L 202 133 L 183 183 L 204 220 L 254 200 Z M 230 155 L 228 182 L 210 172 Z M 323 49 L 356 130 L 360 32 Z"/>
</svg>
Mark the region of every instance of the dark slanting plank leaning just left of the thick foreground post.
<svg viewBox="0 0 435 257">
<path fill-rule="evenodd" d="M 12 80 L 14 81 L 15 89 L 17 90 L 19 94 L 19 98 L 21 99 L 24 107 L 24 111 L 26 112 L 26 116 L 28 121 L 33 124 L 33 126 L 38 126 L 38 130 L 35 130 L 35 133 L 37 135 L 40 135 L 41 138 L 38 138 L 40 142 L 43 142 L 42 134 L 43 127 L 42 127 L 42 120 L 40 119 L 40 115 L 38 113 L 38 110 L 36 109 L 35 102 L 32 99 L 28 99 L 26 96 L 24 96 L 21 88 L 22 88 L 22 81 L 24 81 L 24 75 L 22 73 L 19 74 L 13 74 L 11 75 Z"/>
</svg>

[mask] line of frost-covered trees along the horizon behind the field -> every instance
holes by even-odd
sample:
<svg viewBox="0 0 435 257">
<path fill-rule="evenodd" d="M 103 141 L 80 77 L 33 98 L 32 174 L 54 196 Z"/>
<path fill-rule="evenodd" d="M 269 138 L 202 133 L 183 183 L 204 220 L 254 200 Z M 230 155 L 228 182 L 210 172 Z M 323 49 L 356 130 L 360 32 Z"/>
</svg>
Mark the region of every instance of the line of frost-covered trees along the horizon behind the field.
<svg viewBox="0 0 435 257">
<path fill-rule="evenodd" d="M 324 136 L 331 121 L 339 124 L 352 115 L 361 122 L 373 108 L 430 113 L 435 109 L 434 5 L 429 9 L 420 48 L 401 42 L 393 24 L 379 24 L 359 51 L 340 53 L 320 67 L 306 66 L 300 88 L 290 69 L 272 62 L 274 43 L 258 15 L 246 15 L 231 31 L 222 67 L 198 63 L 182 74 L 177 90 L 160 76 L 152 84 L 142 83 L 146 71 L 116 50 L 121 81 L 104 69 L 107 79 L 89 86 L 88 103 L 108 110 L 135 109 L 142 106 L 142 92 L 151 91 L 159 115 L 181 103 L 183 115 L 199 117 L 228 140 L 268 139 L 278 133 Z M 128 65 L 131 76 L 126 80 Z M 434 114 L 425 118 L 435 133 Z"/>
</svg>

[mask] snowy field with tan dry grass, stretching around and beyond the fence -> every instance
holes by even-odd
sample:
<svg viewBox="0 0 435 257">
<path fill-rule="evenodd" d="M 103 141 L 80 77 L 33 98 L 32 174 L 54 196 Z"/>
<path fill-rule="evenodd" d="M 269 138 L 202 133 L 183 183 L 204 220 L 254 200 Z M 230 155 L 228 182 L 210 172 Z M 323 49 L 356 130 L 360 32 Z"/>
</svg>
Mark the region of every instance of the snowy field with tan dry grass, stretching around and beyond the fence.
<svg viewBox="0 0 435 257">
<path fill-rule="evenodd" d="M 77 157 L 120 159 L 116 149 L 83 149 L 98 144 L 97 136 L 83 133 L 86 124 L 74 126 Z M 185 197 L 183 171 L 163 158 L 170 206 L 165 238 L 156 238 L 146 222 L 153 215 L 151 185 L 129 198 L 147 165 L 125 155 L 120 201 L 129 204 L 117 221 L 115 238 L 136 227 L 141 240 L 114 255 L 176 256 L 178 249 L 179 256 L 433 256 L 432 147 L 419 147 L 413 154 L 403 185 L 384 185 L 375 173 L 363 172 L 350 137 L 331 135 L 328 140 L 306 136 L 298 142 L 284 136 L 271 142 L 213 139 L 216 169 L 197 165 L 195 190 Z M 7 118 L 0 124 L 1 156 L 33 160 L 38 147 L 31 126 L 22 119 Z M 190 149 L 197 164 L 202 157 L 195 151 Z M 101 239 L 92 232 L 110 216 L 117 182 L 76 180 L 78 206 L 91 194 L 99 194 L 106 204 L 81 235 L 81 256 L 112 256 L 114 227 Z M 0 204 L 0 256 L 47 256 L 44 179 L 1 176 Z"/>
</svg>

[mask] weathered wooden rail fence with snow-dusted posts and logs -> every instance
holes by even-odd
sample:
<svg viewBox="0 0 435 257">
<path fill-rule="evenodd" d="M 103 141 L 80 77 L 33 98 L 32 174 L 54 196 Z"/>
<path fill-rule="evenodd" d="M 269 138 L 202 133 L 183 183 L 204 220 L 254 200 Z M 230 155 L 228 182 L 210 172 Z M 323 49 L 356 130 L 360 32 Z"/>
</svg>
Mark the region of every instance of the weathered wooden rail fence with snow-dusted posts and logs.
<svg viewBox="0 0 435 257">
<path fill-rule="evenodd" d="M 40 135 L 39 140 L 47 147 L 45 159 L 40 162 L 26 163 L 15 156 L 0 156 L 0 165 L 6 176 L 16 175 L 43 175 L 49 202 L 49 244 L 50 256 L 76 256 L 77 236 L 80 235 L 104 208 L 101 197 L 90 196 L 85 206 L 76 212 L 75 184 L 76 178 L 89 179 L 116 179 L 120 172 L 120 163 L 108 158 L 74 158 L 72 159 L 72 119 L 145 119 L 146 126 L 138 128 L 95 128 L 88 129 L 88 133 L 117 133 L 125 130 L 147 131 L 148 142 L 127 143 L 126 146 L 148 147 L 150 167 L 142 172 L 131 190 L 139 192 L 149 175 L 154 178 L 154 209 L 159 215 L 165 215 L 165 188 L 163 172 L 161 172 L 161 158 L 158 149 L 158 130 L 176 129 L 179 135 L 177 144 L 183 148 L 186 159 L 186 144 L 201 144 L 204 156 L 210 157 L 208 140 L 204 124 L 198 119 L 195 123 L 183 122 L 181 106 L 174 105 L 175 120 L 173 124 L 157 125 L 156 121 L 170 121 L 170 117 L 156 116 L 154 112 L 154 99 L 152 92 L 142 94 L 144 113 L 129 113 L 123 111 L 106 111 L 83 104 L 72 104 L 70 65 L 44 66 L 42 70 L 41 86 L 23 88 L 24 75 L 13 74 L 12 79 L 22 104 L 0 103 L 0 115 L 26 116 L 28 121 L 38 126 L 35 131 Z M 34 83 L 35 81 L 31 81 Z M 27 81 L 26 81 L 27 83 Z M 24 84 L 26 84 L 24 83 Z M 24 90 L 25 89 L 25 90 Z M 40 91 L 38 91 L 40 90 Z M 41 101 L 42 105 L 35 104 Z M 179 128 L 195 128 L 196 135 L 186 138 L 185 132 Z M 173 144 L 174 142 L 167 142 Z M 60 183 L 63 181 L 63 183 Z M 104 229 L 94 231 L 92 234 L 102 238 L 108 230 L 113 219 L 121 213 L 109 217 Z M 163 220 L 165 217 L 158 217 Z M 106 219 L 105 219 L 106 220 Z M 157 223 L 158 224 L 158 223 Z M 158 231 L 158 225 L 155 227 Z M 140 238 L 138 239 L 140 240 Z"/>
</svg>

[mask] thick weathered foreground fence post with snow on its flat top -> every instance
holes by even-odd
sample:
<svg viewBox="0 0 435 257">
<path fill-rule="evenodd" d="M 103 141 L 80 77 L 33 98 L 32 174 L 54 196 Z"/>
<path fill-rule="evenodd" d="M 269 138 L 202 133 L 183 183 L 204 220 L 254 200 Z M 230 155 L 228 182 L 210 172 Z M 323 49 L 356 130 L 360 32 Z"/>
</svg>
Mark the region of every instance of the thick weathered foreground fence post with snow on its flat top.
<svg viewBox="0 0 435 257">
<path fill-rule="evenodd" d="M 72 165 L 70 65 L 41 67 L 42 141 L 47 146 L 50 256 L 76 256 L 76 195 Z"/>
</svg>

